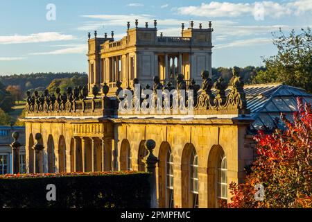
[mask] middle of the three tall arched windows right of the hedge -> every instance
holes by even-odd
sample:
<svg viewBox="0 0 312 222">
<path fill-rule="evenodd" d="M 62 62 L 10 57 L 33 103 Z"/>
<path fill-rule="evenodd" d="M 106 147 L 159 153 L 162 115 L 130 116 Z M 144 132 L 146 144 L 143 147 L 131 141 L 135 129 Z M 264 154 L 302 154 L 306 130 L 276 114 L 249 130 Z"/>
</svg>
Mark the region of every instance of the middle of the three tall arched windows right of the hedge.
<svg viewBox="0 0 312 222">
<path fill-rule="evenodd" d="M 196 151 L 192 151 L 191 154 L 191 194 L 193 194 L 193 208 L 198 208 L 198 155 Z"/>
</svg>

